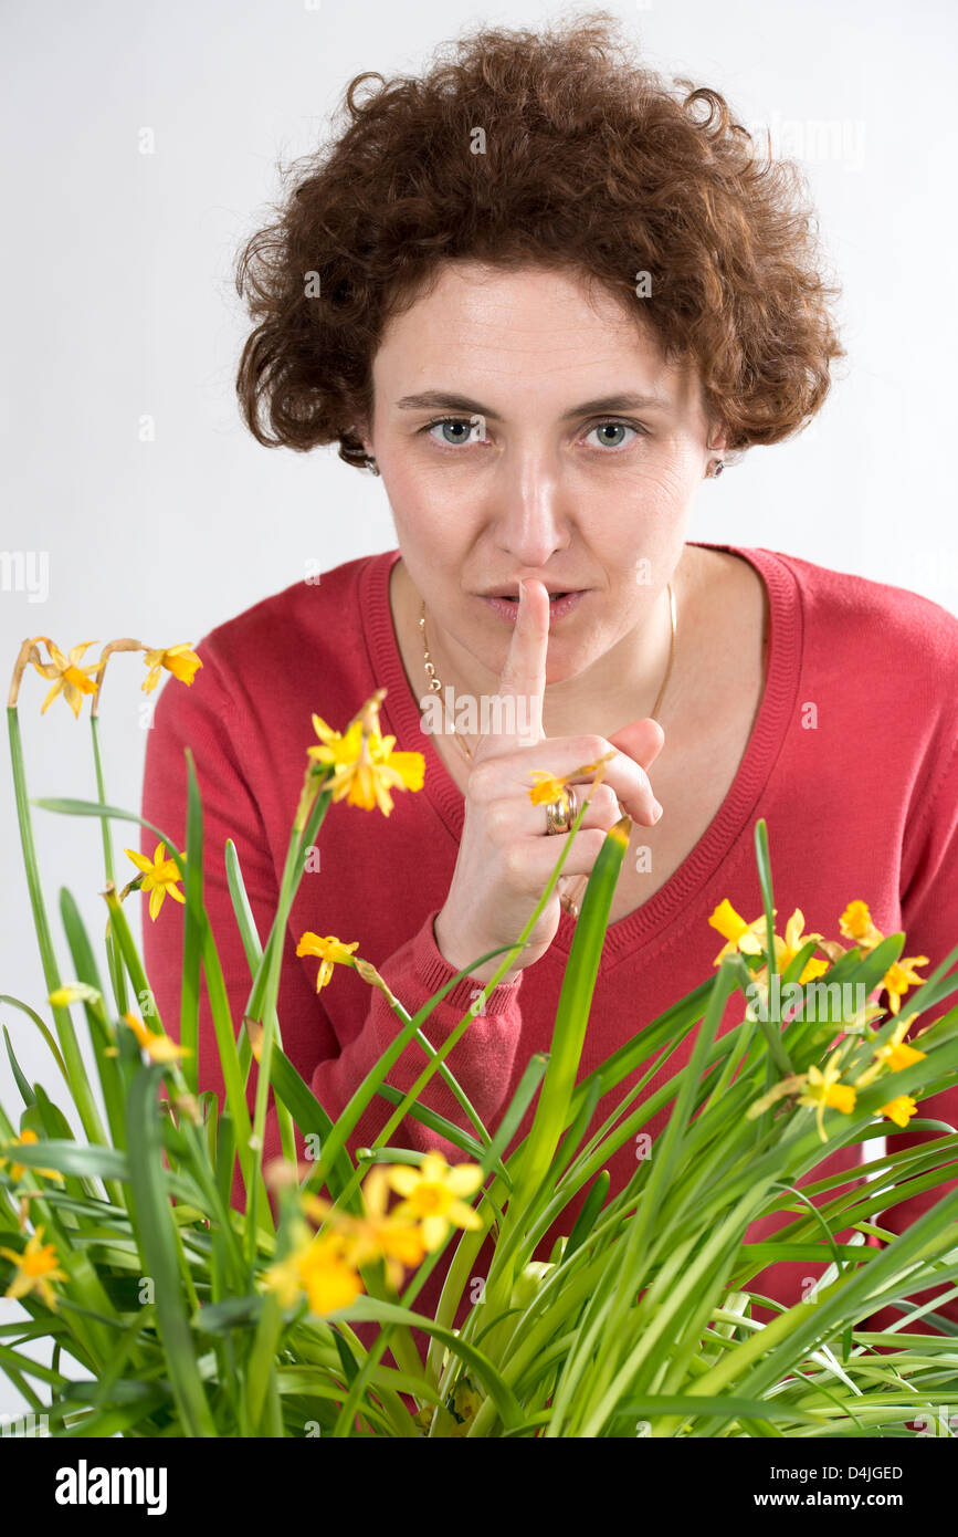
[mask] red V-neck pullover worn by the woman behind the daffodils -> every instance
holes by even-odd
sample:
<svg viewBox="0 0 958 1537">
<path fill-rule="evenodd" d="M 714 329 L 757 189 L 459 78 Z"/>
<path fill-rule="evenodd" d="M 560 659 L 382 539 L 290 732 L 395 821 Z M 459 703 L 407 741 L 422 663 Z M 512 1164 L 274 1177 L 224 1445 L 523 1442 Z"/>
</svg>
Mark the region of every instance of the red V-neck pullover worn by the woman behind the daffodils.
<svg viewBox="0 0 958 1537">
<path fill-rule="evenodd" d="M 694 541 L 703 543 L 703 541 Z M 768 824 L 778 931 L 801 908 L 808 931 L 840 939 L 838 916 L 864 899 L 883 933 L 904 928 L 904 953 L 926 954 L 927 976 L 958 944 L 958 619 L 927 598 L 834 572 L 777 550 L 708 544 L 748 559 L 769 595 L 769 650 L 765 692 L 735 779 L 705 835 L 649 901 L 608 930 L 579 1076 L 634 1036 L 669 1004 L 714 971 L 722 936 L 709 913 L 728 898 L 746 921 L 761 898 L 754 856 L 754 825 Z M 298 581 L 216 626 L 197 647 L 203 669 L 192 686 L 167 679 L 158 698 L 146 755 L 143 816 L 186 847 L 184 747 L 195 756 L 204 807 L 204 901 L 220 951 L 235 1028 L 249 996 L 250 974 L 233 919 L 224 842 L 232 838 L 261 941 L 276 907 L 290 825 L 316 742 L 316 712 L 336 730 L 376 687 L 388 690 L 381 729 L 396 750 L 425 756 L 421 792 L 395 792 L 388 818 L 339 802 L 319 835 L 319 856 L 299 884 L 284 941 L 278 1016 L 282 1045 L 315 1096 L 336 1117 L 352 1093 L 395 1039 L 399 1022 L 378 988 L 349 967 L 335 967 L 316 993 L 319 962 L 296 958 L 304 930 L 359 941 L 358 954 L 381 971 L 404 1007 L 415 1013 L 454 971 L 436 948 L 433 919 L 453 878 L 464 799 L 421 730 L 388 606 L 388 576 L 399 550 L 347 561 L 318 581 Z M 809 710 L 809 704 L 815 707 Z M 809 721 L 814 719 L 814 725 Z M 141 848 L 157 839 L 143 830 Z M 163 904 L 146 915 L 144 959 L 160 1016 L 177 1036 L 183 945 L 183 907 Z M 551 948 L 511 987 L 496 987 L 448 1057 L 485 1127 L 493 1133 L 531 1053 L 548 1051 L 574 922 L 563 913 Z M 847 944 L 847 941 L 843 941 Z M 476 999 L 477 982 L 462 979 L 434 1008 L 425 1034 L 441 1045 Z M 884 994 L 881 1002 L 886 1002 Z M 946 1005 L 947 1007 L 947 1005 Z M 720 1033 L 742 1019 L 732 994 Z M 920 1027 L 944 1013 L 923 1016 Z M 692 1037 L 679 1047 L 640 1100 L 689 1057 Z M 405 1090 L 422 1071 L 424 1054 L 407 1047 L 390 1082 Z M 639 1071 L 602 1099 L 590 1133 L 633 1085 Z M 206 987 L 200 1013 L 200 1088 L 221 1104 L 223 1076 Z M 255 1076 L 250 1074 L 250 1111 Z M 470 1130 L 458 1102 L 434 1077 L 424 1102 Z M 376 1096 L 349 1140 L 350 1153 L 370 1145 L 393 1105 Z M 531 1127 L 527 1111 L 510 1150 Z M 920 1114 L 958 1125 L 958 1088 L 926 1100 Z M 643 1128 L 654 1139 L 668 1107 Z M 892 1133 L 889 1148 L 927 1140 L 930 1133 Z M 464 1154 L 407 1117 L 393 1145 L 438 1147 L 450 1162 Z M 296 1139 L 302 1156 L 301 1139 Z M 279 1156 L 276 1114 L 267 1119 L 264 1159 Z M 611 1193 L 636 1168 L 626 1144 L 609 1159 Z M 823 1159 L 811 1179 L 861 1162 L 861 1145 Z M 854 1174 L 849 1174 L 849 1183 Z M 947 1188 L 953 1188 L 952 1182 Z M 901 1231 L 940 1199 L 941 1191 L 889 1208 L 880 1219 Z M 568 1233 L 585 1190 L 536 1250 L 548 1259 L 557 1234 Z M 240 1177 L 233 1203 L 244 1208 Z M 749 1240 L 768 1237 L 786 1219 L 761 1219 Z M 843 1234 L 844 1236 L 844 1234 Z M 415 1306 L 431 1316 L 453 1243 Z M 488 1270 L 487 1237 L 474 1263 Z M 808 1294 L 823 1263 L 801 1260 L 768 1266 L 749 1288 L 792 1305 Z M 918 1294 L 921 1300 L 940 1293 Z M 459 1326 L 477 1288 L 467 1286 Z M 958 1303 L 943 1308 L 958 1322 Z M 766 1317 L 771 1314 L 765 1314 Z M 874 1326 L 900 1314 L 886 1308 Z M 368 1340 L 375 1330 L 359 1325 Z M 415 1334 L 418 1343 L 424 1337 Z"/>
</svg>

